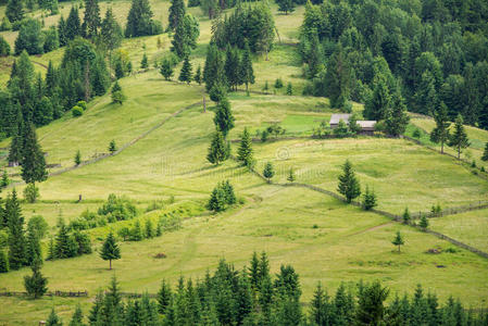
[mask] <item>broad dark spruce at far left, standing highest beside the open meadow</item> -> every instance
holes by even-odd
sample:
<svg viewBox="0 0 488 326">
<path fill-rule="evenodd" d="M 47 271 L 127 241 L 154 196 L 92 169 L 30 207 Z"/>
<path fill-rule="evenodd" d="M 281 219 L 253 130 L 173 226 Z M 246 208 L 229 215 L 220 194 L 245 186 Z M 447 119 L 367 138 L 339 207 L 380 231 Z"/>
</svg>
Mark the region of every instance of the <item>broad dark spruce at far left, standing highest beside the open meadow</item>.
<svg viewBox="0 0 488 326">
<path fill-rule="evenodd" d="M 22 178 L 26 184 L 40 183 L 48 178 L 45 155 L 37 142 L 36 128 L 33 123 L 28 123 L 24 130 L 21 165 Z"/>
</svg>

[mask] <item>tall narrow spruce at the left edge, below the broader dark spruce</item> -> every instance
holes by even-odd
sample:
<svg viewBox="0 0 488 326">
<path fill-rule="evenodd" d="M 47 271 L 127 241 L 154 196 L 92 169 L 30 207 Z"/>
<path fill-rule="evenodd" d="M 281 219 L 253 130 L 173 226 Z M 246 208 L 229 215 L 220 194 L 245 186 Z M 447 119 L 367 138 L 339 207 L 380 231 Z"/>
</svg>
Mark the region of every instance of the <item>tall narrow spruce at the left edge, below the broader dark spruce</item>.
<svg viewBox="0 0 488 326">
<path fill-rule="evenodd" d="M 15 189 L 7 198 L 5 216 L 9 227 L 9 265 L 11 269 L 18 269 L 26 264 L 26 241 L 24 217 Z"/>
</svg>

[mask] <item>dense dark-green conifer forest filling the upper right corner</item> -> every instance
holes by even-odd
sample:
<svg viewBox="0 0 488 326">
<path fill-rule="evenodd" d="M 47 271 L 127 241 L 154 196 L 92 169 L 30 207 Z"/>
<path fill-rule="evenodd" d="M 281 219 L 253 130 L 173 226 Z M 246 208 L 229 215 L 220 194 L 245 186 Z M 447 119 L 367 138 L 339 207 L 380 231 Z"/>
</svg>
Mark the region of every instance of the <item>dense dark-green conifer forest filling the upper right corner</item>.
<svg viewBox="0 0 488 326">
<path fill-rule="evenodd" d="M 300 30 L 305 93 L 333 108 L 365 103 L 367 120 L 385 120 L 404 99 L 409 111 L 488 128 L 486 1 L 308 3 Z"/>
</svg>

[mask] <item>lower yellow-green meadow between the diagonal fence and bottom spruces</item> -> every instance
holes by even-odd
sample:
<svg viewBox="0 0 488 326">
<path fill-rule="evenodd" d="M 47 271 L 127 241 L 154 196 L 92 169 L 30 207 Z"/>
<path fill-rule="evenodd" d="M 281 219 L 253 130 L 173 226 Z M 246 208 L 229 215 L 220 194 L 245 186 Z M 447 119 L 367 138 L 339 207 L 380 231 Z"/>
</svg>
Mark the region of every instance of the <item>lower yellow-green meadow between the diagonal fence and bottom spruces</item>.
<svg viewBox="0 0 488 326">
<path fill-rule="evenodd" d="M 485 303 L 488 262 L 481 258 L 461 249 L 453 253 L 426 253 L 428 249 L 452 246 L 310 190 L 260 185 L 255 191 L 259 197 L 224 214 L 187 220 L 183 229 L 161 238 L 124 242 L 122 259 L 114 263 L 113 273 L 97 253 L 47 262 L 42 271 L 51 289 L 87 289 L 93 293 L 115 274 L 124 291 L 153 293 L 163 278 L 173 284 L 180 275 L 201 278 L 221 258 L 241 268 L 253 251 L 266 250 L 273 273 L 284 263 L 295 266 L 304 301 L 311 298 L 317 281 L 334 289 L 342 280 L 353 284 L 380 279 L 393 292 L 402 293 L 422 283 L 426 290 L 436 290 L 441 301 L 452 293 L 474 306 Z M 295 199 L 291 203 L 290 197 Z M 405 237 L 401 254 L 390 243 L 398 229 Z M 100 246 L 97 243 L 96 248 Z M 167 258 L 154 259 L 160 252 Z M 0 284 L 22 290 L 25 274 L 24 268 L 2 275 Z M 3 298 L 0 301 L 18 302 Z M 79 301 L 87 304 L 85 299 Z M 60 304 L 63 314 L 67 308 L 62 305 L 66 302 L 74 300 L 43 299 L 35 303 L 35 309 L 22 308 L 23 314 L 0 314 L 0 323 L 20 325 L 41 318 L 53 304 Z"/>
</svg>

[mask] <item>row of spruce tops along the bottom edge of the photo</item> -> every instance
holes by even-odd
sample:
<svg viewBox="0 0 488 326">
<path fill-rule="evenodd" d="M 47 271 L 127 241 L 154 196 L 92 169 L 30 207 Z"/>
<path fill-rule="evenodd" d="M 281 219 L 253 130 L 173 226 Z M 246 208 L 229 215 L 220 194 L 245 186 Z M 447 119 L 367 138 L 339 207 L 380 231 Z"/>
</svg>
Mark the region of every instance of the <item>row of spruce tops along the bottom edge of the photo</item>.
<svg viewBox="0 0 488 326">
<path fill-rule="evenodd" d="M 300 278 L 291 265 L 272 275 L 265 252 L 253 254 L 241 271 L 222 260 L 202 279 L 175 288 L 163 280 L 154 299 L 123 300 L 115 277 L 100 291 L 85 316 L 78 305 L 70 325 L 486 325 L 488 314 L 464 309 L 452 297 L 440 304 L 422 286 L 413 296 L 390 294 L 379 281 L 341 284 L 334 294 L 318 284 L 310 309 L 300 302 Z M 390 302 L 387 303 L 387 300 Z M 88 323 L 86 323 L 88 322 Z M 47 325 L 62 325 L 54 309 Z"/>
</svg>

